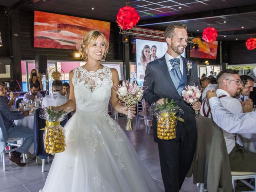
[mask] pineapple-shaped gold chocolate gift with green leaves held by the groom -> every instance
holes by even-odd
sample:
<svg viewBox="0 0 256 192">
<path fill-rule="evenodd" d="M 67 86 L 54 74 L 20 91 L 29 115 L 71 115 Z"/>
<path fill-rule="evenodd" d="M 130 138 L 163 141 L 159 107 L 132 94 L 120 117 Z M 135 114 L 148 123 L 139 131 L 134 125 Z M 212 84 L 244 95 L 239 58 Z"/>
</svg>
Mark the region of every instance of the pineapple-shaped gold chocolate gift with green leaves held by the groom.
<svg viewBox="0 0 256 192">
<path fill-rule="evenodd" d="M 173 99 L 168 102 L 166 98 L 164 104 L 152 104 L 154 116 L 157 118 L 157 137 L 161 140 L 171 140 L 176 138 L 176 124 L 177 120 L 184 122 L 184 120 L 176 114 L 184 114 L 183 110 L 179 108 Z"/>
</svg>

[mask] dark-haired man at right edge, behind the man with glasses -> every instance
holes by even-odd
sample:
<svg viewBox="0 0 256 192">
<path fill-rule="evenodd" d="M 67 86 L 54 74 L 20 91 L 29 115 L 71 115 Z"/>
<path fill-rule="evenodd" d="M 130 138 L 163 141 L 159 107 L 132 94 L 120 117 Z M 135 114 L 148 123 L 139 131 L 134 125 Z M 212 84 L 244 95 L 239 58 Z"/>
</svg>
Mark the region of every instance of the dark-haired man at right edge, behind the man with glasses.
<svg viewBox="0 0 256 192">
<path fill-rule="evenodd" d="M 242 82 L 244 83 L 244 86 L 242 88 L 242 92 L 240 96 L 238 96 L 238 100 L 244 105 L 244 101 L 246 101 L 249 96 L 250 92 L 252 92 L 253 84 L 254 84 L 254 79 L 248 75 L 241 75 L 240 76 Z"/>
</svg>

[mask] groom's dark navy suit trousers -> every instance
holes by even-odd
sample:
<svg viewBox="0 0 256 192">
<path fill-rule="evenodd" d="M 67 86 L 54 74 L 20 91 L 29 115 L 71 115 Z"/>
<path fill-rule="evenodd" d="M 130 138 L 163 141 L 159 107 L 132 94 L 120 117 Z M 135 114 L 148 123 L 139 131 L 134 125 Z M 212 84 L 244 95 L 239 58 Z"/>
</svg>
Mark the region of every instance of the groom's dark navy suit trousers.
<svg viewBox="0 0 256 192">
<path fill-rule="evenodd" d="M 177 122 L 176 139 L 158 143 L 160 166 L 165 192 L 179 192 L 196 150 L 185 127 Z"/>
</svg>

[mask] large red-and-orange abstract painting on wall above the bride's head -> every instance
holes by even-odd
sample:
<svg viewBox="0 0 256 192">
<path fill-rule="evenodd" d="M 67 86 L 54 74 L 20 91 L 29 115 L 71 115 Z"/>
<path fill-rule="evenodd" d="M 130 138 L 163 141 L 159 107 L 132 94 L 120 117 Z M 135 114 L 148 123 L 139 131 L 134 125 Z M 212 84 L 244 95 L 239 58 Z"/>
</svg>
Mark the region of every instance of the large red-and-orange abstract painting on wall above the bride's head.
<svg viewBox="0 0 256 192">
<path fill-rule="evenodd" d="M 109 40 L 110 22 L 34 12 L 34 47 L 79 49 L 84 35 L 97 29 Z"/>
</svg>

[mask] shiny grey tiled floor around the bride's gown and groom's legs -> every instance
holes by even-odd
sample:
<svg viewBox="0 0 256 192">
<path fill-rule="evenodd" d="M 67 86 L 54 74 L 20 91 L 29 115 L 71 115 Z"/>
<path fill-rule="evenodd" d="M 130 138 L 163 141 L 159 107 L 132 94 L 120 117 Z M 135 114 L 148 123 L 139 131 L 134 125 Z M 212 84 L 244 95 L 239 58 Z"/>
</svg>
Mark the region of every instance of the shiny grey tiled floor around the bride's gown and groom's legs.
<svg viewBox="0 0 256 192">
<path fill-rule="evenodd" d="M 134 120 L 134 122 L 136 121 Z M 126 118 L 118 117 L 118 123 L 124 129 Z M 144 166 L 158 184 L 160 192 L 164 192 L 158 148 L 157 144 L 153 141 L 152 129 L 150 135 L 146 134 L 144 122 L 141 121 L 137 130 L 125 132 Z M 50 158 L 50 164 L 46 163 L 45 172 L 42 173 L 42 166 L 37 165 L 35 159 L 27 160 L 27 165 L 24 167 L 17 167 L 8 160 L 8 155 L 6 155 L 6 171 L 4 172 L 1 158 L 0 192 L 38 192 L 44 186 L 52 159 L 53 157 Z M 199 192 L 199 188 L 193 184 L 192 178 L 186 178 L 180 192 Z"/>
</svg>

